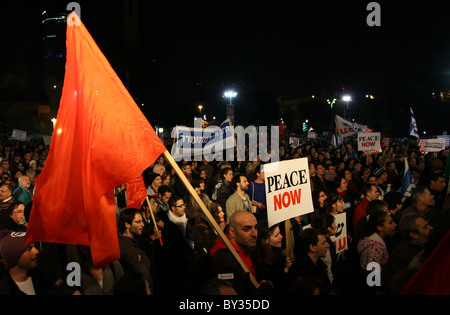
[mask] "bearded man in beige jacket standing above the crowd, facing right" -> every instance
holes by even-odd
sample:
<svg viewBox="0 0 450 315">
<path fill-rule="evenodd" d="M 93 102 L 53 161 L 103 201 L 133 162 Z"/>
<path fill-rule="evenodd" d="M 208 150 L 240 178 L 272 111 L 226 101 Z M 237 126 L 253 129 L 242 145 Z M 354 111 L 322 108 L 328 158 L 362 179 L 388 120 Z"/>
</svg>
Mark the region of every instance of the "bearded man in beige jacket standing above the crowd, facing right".
<svg viewBox="0 0 450 315">
<path fill-rule="evenodd" d="M 225 204 L 228 222 L 231 215 L 238 210 L 251 212 L 252 204 L 250 197 L 247 195 L 249 183 L 246 176 L 234 176 L 233 180 L 231 181 L 231 186 L 233 187 L 235 192 L 230 197 L 228 197 Z"/>
</svg>

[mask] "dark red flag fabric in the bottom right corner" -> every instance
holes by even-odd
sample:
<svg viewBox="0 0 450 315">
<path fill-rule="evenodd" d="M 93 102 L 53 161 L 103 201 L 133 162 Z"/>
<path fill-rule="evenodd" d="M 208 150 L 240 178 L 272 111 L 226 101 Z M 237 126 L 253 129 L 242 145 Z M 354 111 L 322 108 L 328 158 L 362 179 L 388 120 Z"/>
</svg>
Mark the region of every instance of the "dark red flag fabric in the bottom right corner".
<svg viewBox="0 0 450 315">
<path fill-rule="evenodd" d="M 414 274 L 402 295 L 450 294 L 450 231 Z"/>
</svg>

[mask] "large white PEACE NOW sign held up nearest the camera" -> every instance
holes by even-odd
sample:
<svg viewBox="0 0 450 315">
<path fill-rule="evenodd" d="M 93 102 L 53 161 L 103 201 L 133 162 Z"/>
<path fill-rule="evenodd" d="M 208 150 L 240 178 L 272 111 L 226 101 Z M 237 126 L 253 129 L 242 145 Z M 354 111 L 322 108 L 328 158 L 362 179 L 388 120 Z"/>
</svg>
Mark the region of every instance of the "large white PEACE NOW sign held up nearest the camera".
<svg viewBox="0 0 450 315">
<path fill-rule="evenodd" d="M 314 211 L 307 158 L 263 165 L 269 227 Z"/>
</svg>

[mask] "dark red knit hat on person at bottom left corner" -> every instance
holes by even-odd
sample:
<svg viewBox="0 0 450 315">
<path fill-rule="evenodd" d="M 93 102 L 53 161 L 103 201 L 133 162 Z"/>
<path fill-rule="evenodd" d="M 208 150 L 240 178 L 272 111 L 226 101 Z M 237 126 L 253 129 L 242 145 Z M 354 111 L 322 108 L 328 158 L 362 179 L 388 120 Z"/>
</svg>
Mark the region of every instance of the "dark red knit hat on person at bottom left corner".
<svg viewBox="0 0 450 315">
<path fill-rule="evenodd" d="M 30 246 L 25 244 L 25 232 L 0 231 L 0 257 L 9 269 L 19 261 L 20 256 Z"/>
</svg>

